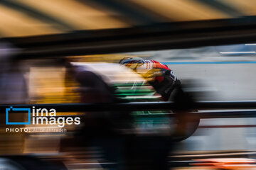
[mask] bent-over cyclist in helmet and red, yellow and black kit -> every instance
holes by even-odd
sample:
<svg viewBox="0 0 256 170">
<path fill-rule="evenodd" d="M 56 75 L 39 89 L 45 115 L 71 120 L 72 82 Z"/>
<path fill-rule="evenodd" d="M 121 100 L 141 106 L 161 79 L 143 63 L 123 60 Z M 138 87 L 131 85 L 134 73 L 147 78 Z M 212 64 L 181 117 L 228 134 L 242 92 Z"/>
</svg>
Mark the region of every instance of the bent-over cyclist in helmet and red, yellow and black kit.
<svg viewBox="0 0 256 170">
<path fill-rule="evenodd" d="M 129 67 L 146 79 L 151 86 L 154 87 L 157 93 L 161 94 L 164 101 L 174 101 L 176 103 L 177 121 L 174 137 L 176 140 L 184 140 L 193 132 L 199 124 L 198 118 L 193 118 L 187 113 L 193 103 L 192 99 L 181 88 L 179 81 L 165 64 L 156 62 L 155 60 L 143 60 L 140 57 L 124 57 L 119 61 L 126 67 Z M 189 130 L 188 130 L 189 129 Z"/>
</svg>

